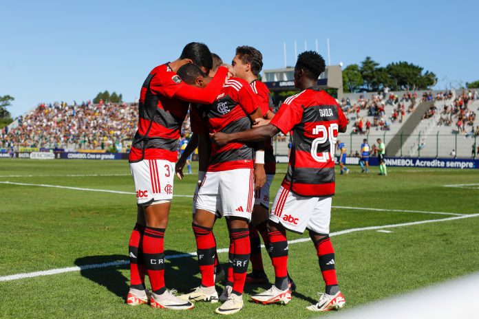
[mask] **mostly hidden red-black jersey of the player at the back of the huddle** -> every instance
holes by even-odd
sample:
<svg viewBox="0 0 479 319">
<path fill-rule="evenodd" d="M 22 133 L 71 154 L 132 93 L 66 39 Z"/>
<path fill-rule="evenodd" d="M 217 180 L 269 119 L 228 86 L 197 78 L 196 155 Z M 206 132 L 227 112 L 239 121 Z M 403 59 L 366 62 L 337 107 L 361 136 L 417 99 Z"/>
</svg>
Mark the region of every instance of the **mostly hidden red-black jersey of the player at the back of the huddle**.
<svg viewBox="0 0 479 319">
<path fill-rule="evenodd" d="M 256 94 L 261 114 L 264 116 L 268 111 L 273 111 L 273 100 L 271 94 L 264 83 L 259 80 L 254 80 L 251 83 L 251 89 Z M 264 171 L 266 174 L 276 173 L 276 158 L 273 151 L 273 139 L 264 142 Z"/>
</svg>

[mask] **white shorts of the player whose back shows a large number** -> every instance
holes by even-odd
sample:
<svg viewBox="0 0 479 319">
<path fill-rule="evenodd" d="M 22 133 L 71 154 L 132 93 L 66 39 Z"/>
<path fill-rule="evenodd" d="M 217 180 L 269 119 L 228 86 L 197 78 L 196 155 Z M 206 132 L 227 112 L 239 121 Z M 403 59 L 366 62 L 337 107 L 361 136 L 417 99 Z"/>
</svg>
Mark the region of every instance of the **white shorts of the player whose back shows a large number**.
<svg viewBox="0 0 479 319">
<path fill-rule="evenodd" d="M 271 208 L 270 220 L 299 234 L 306 228 L 318 234 L 329 234 L 331 201 L 331 197 L 302 197 L 281 186 Z"/>
</svg>

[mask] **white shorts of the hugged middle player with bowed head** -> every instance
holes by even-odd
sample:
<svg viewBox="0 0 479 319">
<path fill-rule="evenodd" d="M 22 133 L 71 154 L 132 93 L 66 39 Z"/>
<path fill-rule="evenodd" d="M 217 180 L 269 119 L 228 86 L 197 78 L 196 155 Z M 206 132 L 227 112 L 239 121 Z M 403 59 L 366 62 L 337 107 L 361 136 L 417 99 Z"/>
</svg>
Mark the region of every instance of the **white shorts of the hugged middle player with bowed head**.
<svg viewBox="0 0 479 319">
<path fill-rule="evenodd" d="M 196 209 L 207 210 L 218 217 L 243 217 L 249 221 L 255 200 L 254 188 L 253 168 L 206 172 L 193 203 L 195 201 Z"/>
</svg>

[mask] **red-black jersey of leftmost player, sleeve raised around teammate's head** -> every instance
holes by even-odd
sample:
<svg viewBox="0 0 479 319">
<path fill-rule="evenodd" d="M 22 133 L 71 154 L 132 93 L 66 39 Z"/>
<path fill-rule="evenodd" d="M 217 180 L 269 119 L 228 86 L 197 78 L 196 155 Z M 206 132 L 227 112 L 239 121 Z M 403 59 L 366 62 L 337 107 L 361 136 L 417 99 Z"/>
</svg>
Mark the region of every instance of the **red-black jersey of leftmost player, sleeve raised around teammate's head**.
<svg viewBox="0 0 479 319">
<path fill-rule="evenodd" d="M 138 130 L 131 144 L 129 161 L 166 159 L 176 162 L 180 130 L 189 107 L 185 100 L 213 101 L 227 72 L 224 67 L 218 68 L 210 84 L 199 89 L 185 84 L 169 63 L 151 70 L 140 92 Z"/>
</svg>

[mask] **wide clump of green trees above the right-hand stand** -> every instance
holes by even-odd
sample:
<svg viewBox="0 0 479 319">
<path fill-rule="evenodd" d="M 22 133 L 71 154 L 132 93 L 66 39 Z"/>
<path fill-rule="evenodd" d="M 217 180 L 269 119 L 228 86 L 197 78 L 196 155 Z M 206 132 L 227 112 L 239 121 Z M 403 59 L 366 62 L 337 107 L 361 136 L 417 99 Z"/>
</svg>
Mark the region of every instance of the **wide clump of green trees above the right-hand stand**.
<svg viewBox="0 0 479 319">
<path fill-rule="evenodd" d="M 389 87 L 392 91 L 430 89 L 438 78 L 433 72 L 405 61 L 393 62 L 385 67 L 366 56 L 360 65 L 352 64 L 343 69 L 345 92 L 380 91 Z"/>
</svg>

